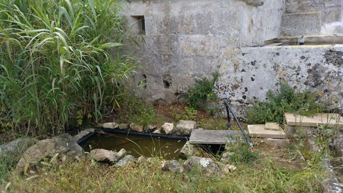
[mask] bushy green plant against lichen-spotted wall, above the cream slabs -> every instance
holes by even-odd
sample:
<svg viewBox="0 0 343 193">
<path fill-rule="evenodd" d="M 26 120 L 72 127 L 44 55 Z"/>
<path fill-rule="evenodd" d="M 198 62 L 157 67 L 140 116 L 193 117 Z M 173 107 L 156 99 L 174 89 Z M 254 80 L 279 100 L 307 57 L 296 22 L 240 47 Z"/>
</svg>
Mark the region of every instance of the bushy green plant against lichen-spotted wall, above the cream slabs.
<svg viewBox="0 0 343 193">
<path fill-rule="evenodd" d="M 312 116 L 320 111 L 316 103 L 316 93 L 309 90 L 296 92 L 287 83 L 279 83 L 279 92 L 268 91 L 268 101 L 250 102 L 252 108 L 246 109 L 247 120 L 251 124 L 262 124 L 265 122 L 283 122 L 285 112 Z"/>
</svg>

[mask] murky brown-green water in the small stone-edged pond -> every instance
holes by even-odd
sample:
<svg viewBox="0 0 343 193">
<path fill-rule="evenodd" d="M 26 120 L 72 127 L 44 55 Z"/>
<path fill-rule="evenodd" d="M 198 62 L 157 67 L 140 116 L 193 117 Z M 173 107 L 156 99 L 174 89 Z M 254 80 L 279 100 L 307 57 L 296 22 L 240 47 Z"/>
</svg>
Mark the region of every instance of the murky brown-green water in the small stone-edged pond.
<svg viewBox="0 0 343 193">
<path fill-rule="evenodd" d="M 143 155 L 145 157 L 162 156 L 166 160 L 176 159 L 178 153 L 186 143 L 184 140 L 170 138 L 151 138 L 147 136 L 136 136 L 125 134 L 108 134 L 95 135 L 88 140 L 82 142 L 81 147 L 89 152 L 92 149 L 107 149 L 118 152 L 122 148 L 129 151 L 130 155 L 138 158 Z"/>
</svg>

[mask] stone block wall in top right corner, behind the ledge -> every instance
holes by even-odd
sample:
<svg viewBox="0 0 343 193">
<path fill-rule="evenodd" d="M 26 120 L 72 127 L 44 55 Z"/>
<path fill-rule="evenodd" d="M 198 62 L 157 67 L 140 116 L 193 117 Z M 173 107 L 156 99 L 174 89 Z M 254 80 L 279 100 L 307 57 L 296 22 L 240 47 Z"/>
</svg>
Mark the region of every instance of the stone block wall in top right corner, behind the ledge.
<svg viewBox="0 0 343 193">
<path fill-rule="evenodd" d="M 342 0 L 286 0 L 281 35 L 342 33 Z"/>
</svg>

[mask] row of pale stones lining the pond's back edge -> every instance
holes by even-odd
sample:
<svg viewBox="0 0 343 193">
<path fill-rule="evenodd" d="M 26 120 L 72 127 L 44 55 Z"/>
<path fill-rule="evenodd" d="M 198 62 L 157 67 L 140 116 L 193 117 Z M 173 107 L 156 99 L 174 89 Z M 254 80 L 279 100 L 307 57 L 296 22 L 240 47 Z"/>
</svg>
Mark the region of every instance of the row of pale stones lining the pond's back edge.
<svg viewBox="0 0 343 193">
<path fill-rule="evenodd" d="M 154 125 L 143 126 L 135 123 L 118 124 L 115 122 L 103 123 L 101 126 L 107 129 L 130 129 L 145 133 L 152 132 L 155 134 L 189 136 L 191 135 L 192 131 L 196 129 L 196 122 L 190 120 L 180 120 L 176 126 L 174 126 L 173 123 L 164 123 L 160 128 L 157 128 Z"/>
</svg>

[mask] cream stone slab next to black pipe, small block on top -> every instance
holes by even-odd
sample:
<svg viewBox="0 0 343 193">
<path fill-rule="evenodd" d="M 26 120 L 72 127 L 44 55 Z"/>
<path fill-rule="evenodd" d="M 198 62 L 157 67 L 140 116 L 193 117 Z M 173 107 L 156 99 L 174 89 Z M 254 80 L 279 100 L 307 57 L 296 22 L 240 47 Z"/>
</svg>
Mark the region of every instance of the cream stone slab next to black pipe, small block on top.
<svg viewBox="0 0 343 193">
<path fill-rule="evenodd" d="M 266 130 L 265 125 L 248 125 L 248 133 L 251 138 L 287 138 L 285 132 Z"/>
</svg>

